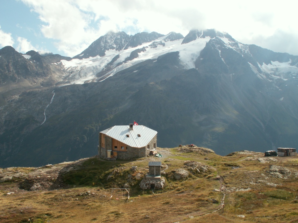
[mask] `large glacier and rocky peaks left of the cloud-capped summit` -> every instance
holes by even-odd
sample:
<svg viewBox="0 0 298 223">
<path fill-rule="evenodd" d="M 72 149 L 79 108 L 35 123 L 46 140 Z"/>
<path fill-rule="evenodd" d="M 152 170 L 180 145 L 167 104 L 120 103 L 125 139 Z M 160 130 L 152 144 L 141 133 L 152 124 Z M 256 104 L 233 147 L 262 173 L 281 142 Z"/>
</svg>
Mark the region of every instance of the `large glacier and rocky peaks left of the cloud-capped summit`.
<svg viewBox="0 0 298 223">
<path fill-rule="evenodd" d="M 180 51 L 181 63 L 185 67 L 194 67 L 192 58 L 206 45 L 208 38 L 194 41 L 191 44 L 181 46 L 183 36 L 171 32 L 165 36 L 157 33 L 140 33 L 135 36 L 124 36 L 124 32 L 108 33 L 94 41 L 80 55 L 75 56 L 72 61 L 62 61 L 65 70 L 71 75 L 68 77 L 72 83 L 83 83 L 85 81 L 102 81 L 113 76 L 115 73 L 139 62 L 156 59 L 169 53 Z M 126 40 L 126 41 L 120 41 Z M 98 51 L 98 48 L 101 51 Z M 98 54 L 94 57 L 89 55 Z M 86 58 L 88 56 L 88 58 Z"/>
</svg>

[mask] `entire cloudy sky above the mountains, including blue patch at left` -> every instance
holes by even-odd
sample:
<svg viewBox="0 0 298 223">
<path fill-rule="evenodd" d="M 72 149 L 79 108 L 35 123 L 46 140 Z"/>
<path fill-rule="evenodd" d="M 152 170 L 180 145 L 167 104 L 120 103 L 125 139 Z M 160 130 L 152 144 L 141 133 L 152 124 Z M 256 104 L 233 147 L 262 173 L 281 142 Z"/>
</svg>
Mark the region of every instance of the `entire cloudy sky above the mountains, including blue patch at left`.
<svg viewBox="0 0 298 223">
<path fill-rule="evenodd" d="M 291 0 L 0 0 L 0 48 L 75 56 L 108 31 L 216 29 L 241 43 L 298 55 Z"/>
</svg>

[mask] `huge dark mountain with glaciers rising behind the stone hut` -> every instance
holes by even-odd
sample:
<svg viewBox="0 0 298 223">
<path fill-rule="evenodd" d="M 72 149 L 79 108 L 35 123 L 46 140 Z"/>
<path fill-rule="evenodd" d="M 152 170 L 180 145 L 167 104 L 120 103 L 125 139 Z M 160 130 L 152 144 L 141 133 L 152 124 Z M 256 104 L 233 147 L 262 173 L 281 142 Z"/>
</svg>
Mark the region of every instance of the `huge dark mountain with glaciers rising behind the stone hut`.
<svg viewBox="0 0 298 223">
<path fill-rule="evenodd" d="M 133 120 L 158 131 L 158 147 L 195 144 L 220 155 L 296 147 L 297 56 L 244 45 L 214 30 L 193 30 L 184 39 L 176 33 L 129 38 L 118 33 L 117 47 L 106 45 L 103 55 L 98 47 L 88 48 L 100 61 L 108 58 L 105 65 L 96 59 L 90 63 L 94 75 L 109 74 L 103 81 L 59 87 L 55 82 L 56 87 L 2 95 L 0 166 L 41 166 L 95 155 L 99 131 Z M 125 41 L 131 44 L 127 49 Z M 3 49 L 1 80 L 14 77 L 2 71 Z M 28 60 L 15 55 L 23 64 Z M 66 68 L 60 55 L 26 55 L 32 60 L 29 68 L 39 57 L 51 72 L 60 67 L 63 84 L 79 68 Z M 86 65 L 80 69 L 76 75 L 86 73 Z"/>
</svg>

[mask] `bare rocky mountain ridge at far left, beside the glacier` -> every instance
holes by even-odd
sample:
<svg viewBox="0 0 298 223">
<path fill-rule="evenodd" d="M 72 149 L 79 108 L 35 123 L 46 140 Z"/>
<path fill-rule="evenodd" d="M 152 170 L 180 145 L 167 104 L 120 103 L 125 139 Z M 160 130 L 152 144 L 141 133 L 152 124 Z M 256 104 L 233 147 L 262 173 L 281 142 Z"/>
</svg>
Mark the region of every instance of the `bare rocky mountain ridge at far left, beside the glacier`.
<svg viewBox="0 0 298 223">
<path fill-rule="evenodd" d="M 62 81 L 65 76 L 62 59 L 71 60 L 58 54 L 41 56 L 33 50 L 21 54 L 11 46 L 0 49 L 0 107 L 6 104 L 7 96 L 52 87 Z"/>
</svg>

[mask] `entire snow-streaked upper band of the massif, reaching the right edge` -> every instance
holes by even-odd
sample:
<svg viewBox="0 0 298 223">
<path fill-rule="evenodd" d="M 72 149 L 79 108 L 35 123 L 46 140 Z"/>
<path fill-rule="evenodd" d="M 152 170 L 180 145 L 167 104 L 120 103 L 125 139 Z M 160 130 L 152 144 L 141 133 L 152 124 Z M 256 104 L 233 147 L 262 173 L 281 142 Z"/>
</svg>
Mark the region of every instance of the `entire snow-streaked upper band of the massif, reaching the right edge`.
<svg viewBox="0 0 298 223">
<path fill-rule="evenodd" d="M 56 61 L 52 61 L 50 65 L 59 67 L 58 72 L 60 73 L 55 77 L 57 81 L 51 83 L 65 85 L 103 81 L 139 62 L 157 59 L 170 52 L 179 52 L 180 65 L 185 69 L 200 70 L 198 67 L 200 63 L 196 60 L 207 43 L 218 51 L 223 62 L 224 56 L 221 55 L 223 49 L 232 49 L 247 58 L 254 73 L 259 78 L 268 81 L 296 78 L 298 73 L 297 56 L 276 54 L 255 45 L 242 44 L 229 34 L 216 32 L 213 29 L 191 30 L 185 37 L 175 32 L 167 35 L 143 32 L 134 36 L 125 32 L 109 32 L 95 40 L 86 50 L 72 59 L 57 58 Z M 262 51 L 262 55 L 259 55 L 260 51 Z M 30 60 L 32 52 L 34 51 L 23 54 L 24 58 Z M 266 57 L 265 60 L 263 56 Z M 40 55 L 39 57 L 43 58 Z M 60 70 L 61 67 L 62 70 Z"/>
</svg>

